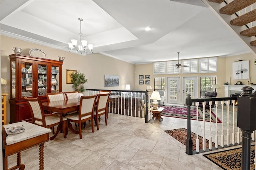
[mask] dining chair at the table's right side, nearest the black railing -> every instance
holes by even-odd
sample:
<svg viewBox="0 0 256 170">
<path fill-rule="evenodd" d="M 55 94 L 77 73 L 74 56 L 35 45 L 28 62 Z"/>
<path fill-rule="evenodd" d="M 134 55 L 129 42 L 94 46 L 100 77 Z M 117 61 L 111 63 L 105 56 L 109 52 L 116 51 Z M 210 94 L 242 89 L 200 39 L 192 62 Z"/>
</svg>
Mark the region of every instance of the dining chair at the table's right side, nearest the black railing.
<svg viewBox="0 0 256 170">
<path fill-rule="evenodd" d="M 99 119 L 101 115 L 105 115 L 105 124 L 107 123 L 107 114 L 108 114 L 108 98 L 110 96 L 111 92 L 109 93 L 99 93 L 98 99 L 97 99 L 97 106 L 96 111 L 94 111 L 94 121 L 97 125 L 97 130 L 99 130 Z"/>
</svg>

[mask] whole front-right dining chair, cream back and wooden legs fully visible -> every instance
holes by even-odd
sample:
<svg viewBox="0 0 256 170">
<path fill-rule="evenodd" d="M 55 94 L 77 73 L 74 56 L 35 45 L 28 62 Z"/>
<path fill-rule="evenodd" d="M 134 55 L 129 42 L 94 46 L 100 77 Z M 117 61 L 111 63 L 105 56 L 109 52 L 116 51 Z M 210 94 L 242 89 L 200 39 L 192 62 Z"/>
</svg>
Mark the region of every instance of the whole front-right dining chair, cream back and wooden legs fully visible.
<svg viewBox="0 0 256 170">
<path fill-rule="evenodd" d="M 80 99 L 79 113 L 73 113 L 66 115 L 68 119 L 68 128 L 75 134 L 79 133 L 80 139 L 82 139 L 82 123 L 91 120 L 92 132 L 94 132 L 93 114 L 94 106 L 98 95 L 82 96 Z M 70 122 L 78 123 L 79 130 L 74 130 Z M 66 131 L 67 133 L 68 131 Z"/>
</svg>

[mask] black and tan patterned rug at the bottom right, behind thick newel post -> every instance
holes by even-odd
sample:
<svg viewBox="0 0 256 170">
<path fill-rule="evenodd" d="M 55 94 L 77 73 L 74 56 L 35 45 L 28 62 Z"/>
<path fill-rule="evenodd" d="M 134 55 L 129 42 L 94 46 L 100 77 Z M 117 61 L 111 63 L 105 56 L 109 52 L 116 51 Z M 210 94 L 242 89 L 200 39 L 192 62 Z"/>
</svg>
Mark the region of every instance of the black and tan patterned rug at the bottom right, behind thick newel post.
<svg viewBox="0 0 256 170">
<path fill-rule="evenodd" d="M 242 148 L 204 154 L 206 158 L 224 170 L 241 170 Z M 250 169 L 254 170 L 255 145 L 251 146 Z"/>
</svg>

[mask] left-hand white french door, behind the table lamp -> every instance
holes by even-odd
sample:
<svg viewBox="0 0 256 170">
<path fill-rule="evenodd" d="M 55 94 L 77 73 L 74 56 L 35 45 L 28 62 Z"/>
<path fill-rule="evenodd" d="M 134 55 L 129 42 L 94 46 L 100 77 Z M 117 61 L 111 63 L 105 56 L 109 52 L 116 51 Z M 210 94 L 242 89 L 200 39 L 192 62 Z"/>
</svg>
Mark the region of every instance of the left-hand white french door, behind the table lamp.
<svg viewBox="0 0 256 170">
<path fill-rule="evenodd" d="M 167 77 L 167 103 L 180 104 L 180 77 Z"/>
</svg>

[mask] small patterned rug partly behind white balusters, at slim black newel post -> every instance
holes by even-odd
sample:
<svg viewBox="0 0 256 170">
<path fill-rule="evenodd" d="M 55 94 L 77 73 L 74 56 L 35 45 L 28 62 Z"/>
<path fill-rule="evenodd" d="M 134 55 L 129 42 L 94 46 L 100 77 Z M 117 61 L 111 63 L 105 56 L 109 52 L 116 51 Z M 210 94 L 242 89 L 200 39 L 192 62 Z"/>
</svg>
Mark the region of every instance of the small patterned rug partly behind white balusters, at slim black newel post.
<svg viewBox="0 0 256 170">
<path fill-rule="evenodd" d="M 177 128 L 173 130 L 164 130 L 164 132 L 170 134 L 172 137 L 174 137 L 176 140 L 180 141 L 182 144 L 186 144 L 186 138 L 188 131 L 186 128 Z M 196 134 L 194 132 L 191 132 L 191 139 L 193 141 L 192 144 L 192 150 L 196 150 Z M 202 143 L 202 136 L 198 135 L 199 139 L 199 149 L 203 148 L 203 143 Z M 215 147 L 215 143 L 212 142 L 212 147 Z M 209 148 L 209 140 L 206 139 L 206 148 Z"/>
</svg>

